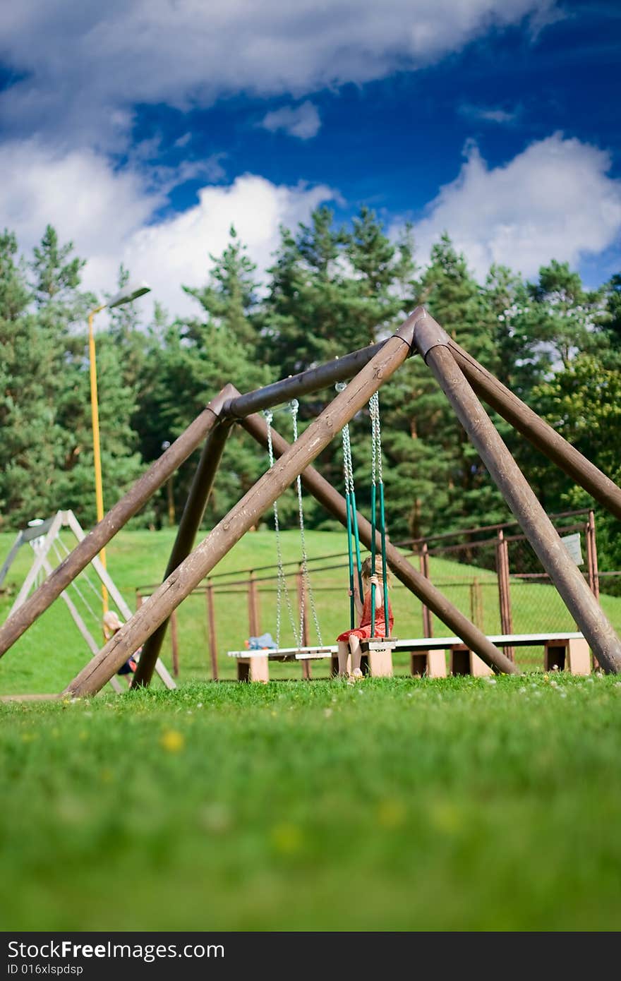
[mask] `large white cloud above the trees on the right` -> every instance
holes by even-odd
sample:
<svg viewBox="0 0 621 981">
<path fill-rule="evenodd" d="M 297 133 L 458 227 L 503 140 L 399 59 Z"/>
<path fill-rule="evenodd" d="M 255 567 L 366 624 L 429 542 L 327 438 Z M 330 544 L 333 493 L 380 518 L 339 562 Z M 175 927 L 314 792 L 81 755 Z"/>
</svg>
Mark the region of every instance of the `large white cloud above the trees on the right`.
<svg viewBox="0 0 621 981">
<path fill-rule="evenodd" d="M 575 266 L 621 233 L 621 181 L 609 169 L 606 151 L 560 133 L 492 169 L 470 145 L 457 179 L 414 226 L 420 254 L 447 231 L 479 279 L 492 262 L 527 277 L 552 258 Z"/>
</svg>

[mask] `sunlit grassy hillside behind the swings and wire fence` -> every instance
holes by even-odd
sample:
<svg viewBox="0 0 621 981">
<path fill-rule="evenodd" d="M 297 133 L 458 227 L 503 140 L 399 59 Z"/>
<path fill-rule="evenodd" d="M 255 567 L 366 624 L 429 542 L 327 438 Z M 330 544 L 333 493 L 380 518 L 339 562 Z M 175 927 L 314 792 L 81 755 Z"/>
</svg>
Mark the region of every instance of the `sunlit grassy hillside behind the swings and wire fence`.
<svg viewBox="0 0 621 981">
<path fill-rule="evenodd" d="M 68 545 L 71 537 L 63 533 Z M 334 569 L 312 572 L 311 582 L 320 621 L 324 644 L 332 644 L 340 631 L 349 626 L 349 607 L 347 596 L 346 557 L 342 554 L 345 536 L 329 532 L 307 532 L 307 549 L 312 560 L 324 555 L 340 557 L 327 561 Z M 166 566 L 175 530 L 162 532 L 124 531 L 111 542 L 107 549 L 108 567 L 129 606 L 135 606 L 137 587 L 156 585 L 160 582 Z M 14 536 L 0 535 L 0 560 L 8 554 Z M 299 559 L 299 534 L 285 531 L 283 534 L 285 561 Z M 5 582 L 7 592 L 0 594 L 0 622 L 11 607 L 13 598 L 19 590 L 26 571 L 31 563 L 32 553 L 28 546 L 21 550 Z M 273 533 L 260 531 L 248 534 L 238 542 L 233 550 L 215 570 L 217 574 L 239 569 L 273 565 L 276 560 L 276 546 Z M 481 626 L 489 634 L 500 633 L 498 597 L 495 577 L 487 570 L 457 562 L 432 558 L 432 577 L 448 598 L 467 616 L 479 616 Z M 257 577 L 267 575 L 257 571 Z M 89 575 L 92 587 L 97 581 Z M 476 585 L 475 584 L 476 581 Z M 247 615 L 247 594 L 245 586 L 228 587 L 223 590 L 222 580 L 215 595 L 216 627 L 218 642 L 218 662 L 221 678 L 233 678 L 235 665 L 227 656 L 228 650 L 243 648 L 249 634 Z M 292 606 L 297 609 L 294 580 L 289 581 Z M 261 631 L 276 635 L 276 592 L 275 583 L 259 583 L 259 607 Z M 479 602 L 474 591 L 479 592 Z M 98 614 L 98 598 L 91 586 L 79 580 L 81 596 L 70 590 L 84 621 L 97 641 L 101 640 Z M 90 611 L 84 605 L 84 600 Z M 421 603 L 399 583 L 395 583 L 391 593 L 391 603 L 395 614 L 394 633 L 396 637 L 422 636 Z M 513 621 L 516 633 L 575 630 L 575 624 L 556 591 L 548 585 L 524 585 L 514 581 L 512 584 Z M 621 630 L 621 597 L 603 596 L 602 605 L 617 630 Z M 92 611 L 92 612 L 91 612 Z M 178 611 L 180 636 L 181 682 L 206 680 L 211 677 L 211 662 L 207 643 L 207 620 L 204 594 L 189 596 Z M 438 621 L 434 621 L 436 636 L 448 633 Z M 317 636 L 311 619 L 311 644 L 317 643 Z M 293 645 L 293 634 L 288 617 L 283 612 L 282 645 Z M 0 659 L 0 695 L 34 692 L 59 692 L 74 678 L 86 660 L 89 652 L 78 634 L 68 610 L 61 599 L 26 631 L 23 638 Z M 163 650 L 165 663 L 171 666 L 170 637 Z M 529 670 L 541 670 L 542 649 L 517 648 L 518 665 Z M 405 674 L 408 671 L 408 655 L 395 656 L 395 669 Z M 299 677 L 300 669 L 295 664 L 273 664 L 271 673 L 275 678 Z M 327 663 L 313 664 L 315 677 L 327 677 Z M 158 683 L 159 684 L 159 683 Z"/>
</svg>

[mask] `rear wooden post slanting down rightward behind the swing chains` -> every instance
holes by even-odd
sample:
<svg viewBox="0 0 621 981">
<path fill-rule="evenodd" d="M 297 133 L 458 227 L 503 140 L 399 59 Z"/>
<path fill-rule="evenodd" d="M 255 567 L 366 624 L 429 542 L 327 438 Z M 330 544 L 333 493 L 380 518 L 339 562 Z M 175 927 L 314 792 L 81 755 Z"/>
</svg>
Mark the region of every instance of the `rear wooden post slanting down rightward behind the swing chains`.
<svg viewBox="0 0 621 981">
<path fill-rule="evenodd" d="M 267 446 L 265 419 L 258 415 L 248 416 L 242 420 L 241 425 L 257 442 L 260 442 L 262 446 Z M 277 456 L 285 454 L 290 448 L 286 440 L 274 429 L 272 430 L 272 444 Z M 332 484 L 322 477 L 314 467 L 307 466 L 301 476 L 302 484 L 306 490 L 312 493 L 320 504 L 331 514 L 334 514 L 341 525 L 346 528 L 347 505 L 342 494 L 338 493 Z M 357 514 L 356 517 L 360 541 L 367 548 L 370 548 L 372 537 L 371 524 L 361 514 Z M 376 544 L 379 551 L 382 547 L 379 532 L 376 534 Z M 501 671 L 504 674 L 517 673 L 517 668 L 509 658 L 505 657 L 502 651 L 493 645 L 485 634 L 475 627 L 456 606 L 449 602 L 446 596 L 442 595 L 433 583 L 425 579 L 390 542 L 387 542 L 386 553 L 388 565 L 399 582 L 403 583 L 411 593 L 427 603 L 430 609 L 440 618 L 442 623 L 446 624 L 452 633 L 470 645 L 496 671 Z M 333 662 L 333 669 L 335 668 L 335 664 L 337 664 L 336 659 Z"/>
</svg>

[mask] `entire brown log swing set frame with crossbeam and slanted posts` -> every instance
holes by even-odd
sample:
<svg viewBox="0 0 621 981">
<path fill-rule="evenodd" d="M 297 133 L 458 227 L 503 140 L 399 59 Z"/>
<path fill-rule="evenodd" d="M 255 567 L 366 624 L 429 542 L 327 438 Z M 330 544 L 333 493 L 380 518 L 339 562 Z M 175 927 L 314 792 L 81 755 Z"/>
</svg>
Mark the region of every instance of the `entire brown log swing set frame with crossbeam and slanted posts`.
<svg viewBox="0 0 621 981">
<path fill-rule="evenodd" d="M 478 396 L 484 398 L 492 409 L 617 518 L 621 518 L 621 489 L 452 340 L 424 307 L 417 307 L 399 330 L 381 343 L 246 394 L 240 394 L 231 384 L 225 386 L 24 605 L 7 619 L 0 628 L 0 656 L 15 644 L 34 620 L 205 440 L 162 585 L 142 603 L 121 630 L 98 651 L 63 692 L 39 697 L 95 695 L 140 646 L 142 653 L 133 686 L 148 685 L 173 611 L 214 569 L 233 544 L 256 524 L 298 475 L 301 475 L 306 490 L 314 494 L 346 526 L 344 497 L 311 466 L 312 461 L 366 405 L 371 395 L 385 385 L 406 358 L 413 354 L 423 357 L 440 383 L 498 490 L 593 650 L 596 661 L 604 671 L 619 673 L 619 638 L 560 541 L 543 506 L 498 435 Z M 265 446 L 265 420 L 257 413 L 289 399 L 345 381 L 349 382 L 347 387 L 336 394 L 295 443 L 289 445 L 278 433 L 272 431 L 277 457 L 274 467 L 193 548 L 233 424 L 239 423 Z M 369 547 L 369 522 L 358 513 L 357 524 L 360 541 Z M 381 547 L 379 533 L 376 541 L 378 547 Z M 506 674 L 517 672 L 513 661 L 389 542 L 387 559 L 393 575 L 493 671 Z"/>
</svg>

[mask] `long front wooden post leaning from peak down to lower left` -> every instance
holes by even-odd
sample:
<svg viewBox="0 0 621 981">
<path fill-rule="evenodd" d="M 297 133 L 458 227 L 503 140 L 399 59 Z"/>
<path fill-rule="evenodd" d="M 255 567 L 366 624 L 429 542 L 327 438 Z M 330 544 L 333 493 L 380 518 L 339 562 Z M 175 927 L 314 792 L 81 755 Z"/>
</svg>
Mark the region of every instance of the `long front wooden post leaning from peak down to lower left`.
<svg viewBox="0 0 621 981">
<path fill-rule="evenodd" d="M 281 459 L 238 501 L 214 530 L 187 556 L 155 593 L 142 604 L 99 654 L 79 672 L 66 692 L 94 695 L 137 648 L 171 615 L 186 595 L 231 550 L 233 544 L 256 524 L 298 474 L 318 456 L 409 356 L 416 321 L 425 311 L 416 310 L 396 334 L 349 385 L 336 395 Z M 421 577 L 422 578 L 422 577 Z M 495 650 L 495 647 L 492 646 Z M 140 658 L 142 662 L 142 658 Z M 507 663 L 509 663 L 507 661 Z"/>
</svg>

